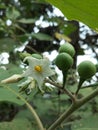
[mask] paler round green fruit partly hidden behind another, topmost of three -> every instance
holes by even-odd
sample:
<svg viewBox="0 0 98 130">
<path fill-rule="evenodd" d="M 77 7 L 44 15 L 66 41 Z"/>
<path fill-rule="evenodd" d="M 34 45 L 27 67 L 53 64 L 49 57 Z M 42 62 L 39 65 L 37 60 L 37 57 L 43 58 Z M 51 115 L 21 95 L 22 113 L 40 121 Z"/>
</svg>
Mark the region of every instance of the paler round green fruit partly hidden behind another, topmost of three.
<svg viewBox="0 0 98 130">
<path fill-rule="evenodd" d="M 68 42 L 61 45 L 58 51 L 59 51 L 59 53 L 66 52 L 69 55 L 71 55 L 72 57 L 75 55 L 74 47 Z"/>
</svg>

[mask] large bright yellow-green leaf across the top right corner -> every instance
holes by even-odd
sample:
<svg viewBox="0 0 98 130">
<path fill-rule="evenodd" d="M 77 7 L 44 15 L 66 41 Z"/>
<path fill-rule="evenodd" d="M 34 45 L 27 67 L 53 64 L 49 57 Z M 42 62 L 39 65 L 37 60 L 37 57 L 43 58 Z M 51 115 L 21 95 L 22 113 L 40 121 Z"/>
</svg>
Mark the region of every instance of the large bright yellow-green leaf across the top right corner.
<svg viewBox="0 0 98 130">
<path fill-rule="evenodd" d="M 79 20 L 94 30 L 98 29 L 98 0 L 46 0 L 69 20 Z"/>
</svg>

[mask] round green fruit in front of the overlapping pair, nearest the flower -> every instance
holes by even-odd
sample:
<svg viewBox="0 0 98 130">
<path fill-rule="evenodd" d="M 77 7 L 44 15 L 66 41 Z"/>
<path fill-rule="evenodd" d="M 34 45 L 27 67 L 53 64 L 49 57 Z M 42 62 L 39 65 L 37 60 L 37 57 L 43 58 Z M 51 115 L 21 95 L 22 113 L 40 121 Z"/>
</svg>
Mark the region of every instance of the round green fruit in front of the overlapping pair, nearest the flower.
<svg viewBox="0 0 98 130">
<path fill-rule="evenodd" d="M 55 64 L 60 70 L 67 71 L 72 66 L 73 59 L 67 53 L 60 53 L 55 59 Z"/>
</svg>

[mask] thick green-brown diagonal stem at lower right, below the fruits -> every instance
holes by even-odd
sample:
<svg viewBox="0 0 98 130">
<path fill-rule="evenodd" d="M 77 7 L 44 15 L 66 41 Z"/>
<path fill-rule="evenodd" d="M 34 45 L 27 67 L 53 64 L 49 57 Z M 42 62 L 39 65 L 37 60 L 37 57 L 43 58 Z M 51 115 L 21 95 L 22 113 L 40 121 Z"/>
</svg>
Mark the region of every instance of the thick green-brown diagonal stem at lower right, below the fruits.
<svg viewBox="0 0 98 130">
<path fill-rule="evenodd" d="M 92 98 L 96 97 L 98 95 L 98 88 L 96 88 L 91 94 L 88 96 L 82 98 L 82 99 L 77 99 L 75 102 L 72 103 L 70 108 L 65 111 L 49 128 L 48 130 L 54 130 L 56 129 L 64 120 L 67 120 L 70 115 L 76 111 L 78 108 L 80 108 L 82 105 L 87 103 L 89 100 Z"/>
</svg>

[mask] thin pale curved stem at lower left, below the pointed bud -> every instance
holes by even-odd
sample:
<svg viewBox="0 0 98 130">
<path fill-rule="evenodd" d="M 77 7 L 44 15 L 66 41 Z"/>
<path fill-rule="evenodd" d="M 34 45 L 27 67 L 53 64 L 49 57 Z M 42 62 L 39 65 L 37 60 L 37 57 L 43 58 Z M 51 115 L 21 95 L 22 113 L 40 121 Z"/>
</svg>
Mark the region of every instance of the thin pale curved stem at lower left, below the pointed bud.
<svg viewBox="0 0 98 130">
<path fill-rule="evenodd" d="M 15 92 L 13 89 L 11 89 L 10 87 L 8 86 L 5 86 L 4 84 L 0 84 L 0 86 L 3 86 L 5 88 L 7 88 L 9 91 L 11 91 L 12 93 L 14 93 L 16 96 L 18 96 L 25 104 L 26 106 L 28 107 L 28 109 L 31 111 L 32 115 L 34 116 L 35 120 L 36 120 L 36 123 L 39 127 L 40 130 L 45 130 L 37 113 L 35 112 L 34 108 L 20 95 L 18 94 L 17 92 Z"/>
</svg>

